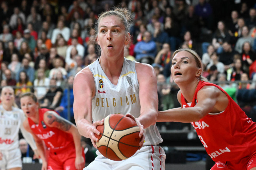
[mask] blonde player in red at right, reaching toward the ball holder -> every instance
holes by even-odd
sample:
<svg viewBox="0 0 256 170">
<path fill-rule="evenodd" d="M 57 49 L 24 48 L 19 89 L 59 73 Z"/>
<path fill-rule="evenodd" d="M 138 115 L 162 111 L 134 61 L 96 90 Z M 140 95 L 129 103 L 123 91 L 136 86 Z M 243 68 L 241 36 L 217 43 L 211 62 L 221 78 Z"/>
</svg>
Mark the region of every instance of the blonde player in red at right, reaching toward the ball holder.
<svg viewBox="0 0 256 170">
<path fill-rule="evenodd" d="M 157 121 L 191 122 L 216 162 L 211 170 L 255 170 L 255 122 L 221 87 L 204 81 L 195 51 L 179 49 L 173 56 L 171 75 L 180 88 L 181 108 L 159 111 Z"/>
</svg>

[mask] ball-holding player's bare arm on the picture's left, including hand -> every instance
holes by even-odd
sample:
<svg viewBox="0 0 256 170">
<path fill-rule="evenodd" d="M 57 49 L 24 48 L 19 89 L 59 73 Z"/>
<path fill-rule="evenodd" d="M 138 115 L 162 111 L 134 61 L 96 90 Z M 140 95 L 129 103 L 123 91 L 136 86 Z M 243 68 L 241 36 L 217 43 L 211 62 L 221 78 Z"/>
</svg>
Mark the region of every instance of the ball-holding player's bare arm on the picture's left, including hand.
<svg viewBox="0 0 256 170">
<path fill-rule="evenodd" d="M 74 78 L 74 118 L 78 131 L 86 138 L 90 138 L 93 146 L 97 148 L 95 142 L 98 138 L 94 133 L 100 134 L 96 129 L 97 125 L 103 124 L 102 121 L 95 121 L 92 124 L 91 99 L 95 94 L 95 83 L 93 74 L 88 67 L 80 71 Z"/>
</svg>

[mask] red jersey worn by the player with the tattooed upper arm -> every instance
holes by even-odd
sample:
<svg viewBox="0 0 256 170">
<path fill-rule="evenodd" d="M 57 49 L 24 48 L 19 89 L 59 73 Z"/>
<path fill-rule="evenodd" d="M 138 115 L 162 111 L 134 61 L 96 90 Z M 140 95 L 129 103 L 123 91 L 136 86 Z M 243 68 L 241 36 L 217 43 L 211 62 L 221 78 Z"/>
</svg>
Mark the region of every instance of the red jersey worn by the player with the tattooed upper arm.
<svg viewBox="0 0 256 170">
<path fill-rule="evenodd" d="M 67 146 L 74 146 L 73 136 L 58 128 L 52 128 L 45 124 L 43 115 L 49 109 L 39 109 L 39 124 L 35 124 L 28 118 L 31 130 L 37 137 L 45 142 L 45 145 L 50 151 L 57 151 Z"/>
</svg>

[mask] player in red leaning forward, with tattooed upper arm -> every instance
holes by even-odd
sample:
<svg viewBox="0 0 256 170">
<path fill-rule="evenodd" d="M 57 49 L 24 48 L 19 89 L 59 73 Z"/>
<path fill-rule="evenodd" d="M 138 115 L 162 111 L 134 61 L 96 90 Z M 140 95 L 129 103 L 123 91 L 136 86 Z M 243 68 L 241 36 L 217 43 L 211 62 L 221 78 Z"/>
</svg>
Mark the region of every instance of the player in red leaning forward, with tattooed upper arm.
<svg viewBox="0 0 256 170">
<path fill-rule="evenodd" d="M 21 96 L 21 109 L 27 116 L 23 126 L 33 135 L 43 161 L 42 170 L 80 170 L 84 167 L 81 136 L 74 124 L 54 111 L 40 109 L 36 96 L 30 92 Z"/>
</svg>

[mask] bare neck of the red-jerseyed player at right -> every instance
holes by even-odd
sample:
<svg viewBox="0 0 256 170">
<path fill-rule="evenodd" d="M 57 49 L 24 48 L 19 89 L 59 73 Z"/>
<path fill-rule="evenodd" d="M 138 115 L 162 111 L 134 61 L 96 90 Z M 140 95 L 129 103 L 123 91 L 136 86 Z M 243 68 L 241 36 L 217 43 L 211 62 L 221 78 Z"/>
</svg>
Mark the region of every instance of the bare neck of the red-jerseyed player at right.
<svg viewBox="0 0 256 170">
<path fill-rule="evenodd" d="M 183 82 L 180 84 L 177 83 L 177 85 L 181 89 L 182 95 L 185 97 L 187 102 L 189 102 L 189 103 L 192 102 L 194 93 L 195 93 L 195 89 L 197 88 L 199 81 L 200 81 L 200 79 L 194 79 L 193 81 L 190 81 L 189 83 L 188 82 Z"/>
</svg>

